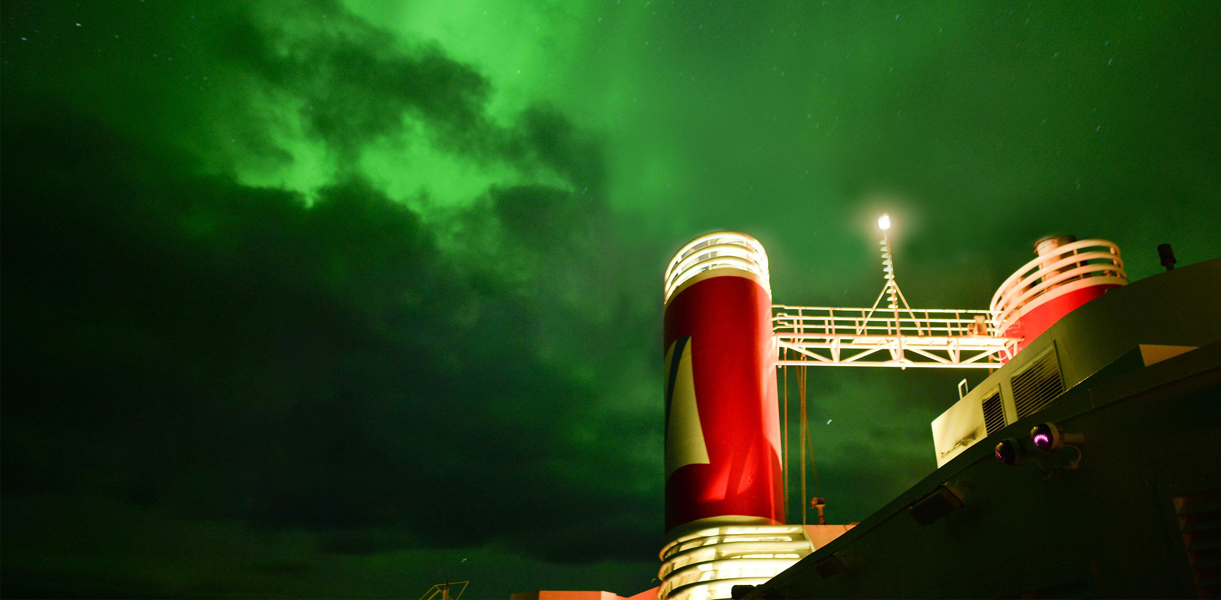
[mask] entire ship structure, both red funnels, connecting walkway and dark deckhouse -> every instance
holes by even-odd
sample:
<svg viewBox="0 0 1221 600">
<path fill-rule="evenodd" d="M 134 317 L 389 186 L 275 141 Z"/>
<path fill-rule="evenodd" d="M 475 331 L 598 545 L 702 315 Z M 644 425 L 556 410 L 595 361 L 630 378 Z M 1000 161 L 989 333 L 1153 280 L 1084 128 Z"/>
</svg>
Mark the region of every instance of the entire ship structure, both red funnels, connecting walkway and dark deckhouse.
<svg viewBox="0 0 1221 600">
<path fill-rule="evenodd" d="M 1164 245 L 1170 272 L 1129 285 L 1116 244 L 1049 235 L 987 309 L 913 309 L 878 224 L 869 307 L 773 304 L 767 252 L 737 232 L 669 262 L 667 543 L 659 587 L 632 598 L 1221 595 L 1221 259 L 1171 271 Z M 788 370 L 821 515 L 803 379 L 834 366 L 990 374 L 932 423 L 923 482 L 860 524 L 805 506 L 789 523 Z M 548 594 L 619 598 L 520 598 Z"/>
</svg>

